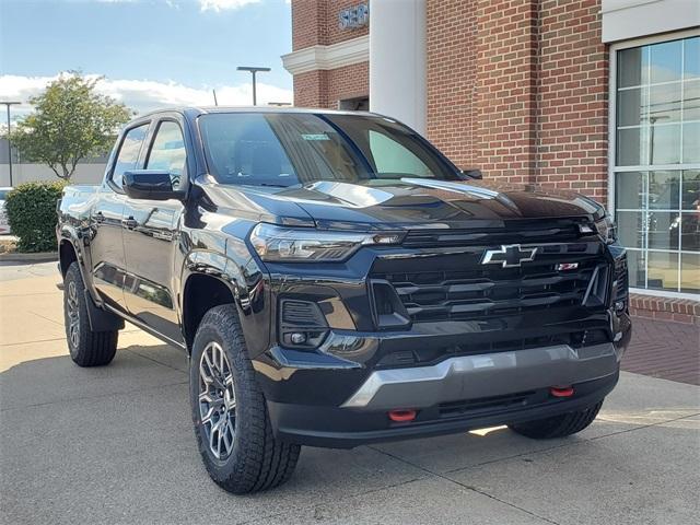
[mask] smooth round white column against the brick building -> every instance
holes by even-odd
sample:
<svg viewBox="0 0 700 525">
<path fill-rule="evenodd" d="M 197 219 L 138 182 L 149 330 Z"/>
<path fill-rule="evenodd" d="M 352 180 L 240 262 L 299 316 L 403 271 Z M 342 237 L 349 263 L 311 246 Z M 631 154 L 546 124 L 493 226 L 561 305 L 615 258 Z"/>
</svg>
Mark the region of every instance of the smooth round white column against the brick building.
<svg viewBox="0 0 700 525">
<path fill-rule="evenodd" d="M 425 0 L 370 4 L 370 110 L 425 132 Z"/>
</svg>

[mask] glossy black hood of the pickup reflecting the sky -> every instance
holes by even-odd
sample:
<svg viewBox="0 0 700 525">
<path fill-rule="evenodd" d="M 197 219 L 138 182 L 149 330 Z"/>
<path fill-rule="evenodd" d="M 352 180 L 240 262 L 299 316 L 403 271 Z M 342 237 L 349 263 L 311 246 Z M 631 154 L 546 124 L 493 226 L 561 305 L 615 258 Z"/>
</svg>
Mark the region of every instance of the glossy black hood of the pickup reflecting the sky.
<svg viewBox="0 0 700 525">
<path fill-rule="evenodd" d="M 248 210 L 257 210 L 260 220 L 313 222 L 322 229 L 499 228 L 524 219 L 598 219 L 605 214 L 600 205 L 575 192 L 483 180 L 370 179 L 291 188 L 218 185 L 215 192 L 220 197 L 215 200 L 245 202 Z"/>
</svg>

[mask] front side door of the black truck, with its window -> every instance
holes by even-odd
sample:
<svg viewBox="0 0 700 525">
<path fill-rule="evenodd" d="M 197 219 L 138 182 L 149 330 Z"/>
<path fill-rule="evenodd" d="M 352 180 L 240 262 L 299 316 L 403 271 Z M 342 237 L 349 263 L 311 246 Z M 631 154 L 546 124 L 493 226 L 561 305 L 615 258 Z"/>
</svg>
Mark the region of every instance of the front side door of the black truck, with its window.
<svg viewBox="0 0 700 525">
<path fill-rule="evenodd" d="M 154 122 L 145 148 L 143 168 L 168 171 L 173 189 L 187 186 L 183 129 L 177 116 L 163 117 Z M 144 325 L 175 342 L 183 341 L 173 283 L 183 212 L 184 205 L 177 199 L 127 197 L 122 220 L 127 308 Z"/>
</svg>

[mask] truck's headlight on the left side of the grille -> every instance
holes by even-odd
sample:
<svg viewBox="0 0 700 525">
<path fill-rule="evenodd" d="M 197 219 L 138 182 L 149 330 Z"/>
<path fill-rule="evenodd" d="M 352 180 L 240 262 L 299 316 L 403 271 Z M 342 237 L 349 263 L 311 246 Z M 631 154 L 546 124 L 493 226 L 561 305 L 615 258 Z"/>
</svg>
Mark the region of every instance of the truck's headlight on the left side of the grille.
<svg viewBox="0 0 700 525">
<path fill-rule="evenodd" d="M 330 232 L 313 228 L 283 228 L 260 223 L 250 232 L 250 243 L 262 260 L 268 261 L 341 261 L 360 246 L 398 244 L 397 233 Z"/>
</svg>

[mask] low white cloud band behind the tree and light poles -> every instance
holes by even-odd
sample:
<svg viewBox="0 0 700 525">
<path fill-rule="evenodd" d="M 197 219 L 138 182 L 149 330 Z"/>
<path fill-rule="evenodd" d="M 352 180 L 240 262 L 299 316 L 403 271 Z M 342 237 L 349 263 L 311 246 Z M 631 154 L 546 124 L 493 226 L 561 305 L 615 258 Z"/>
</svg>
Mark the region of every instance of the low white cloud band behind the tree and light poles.
<svg viewBox="0 0 700 525">
<path fill-rule="evenodd" d="M 94 78 L 94 74 L 86 74 Z M 20 106 L 12 106 L 13 119 L 32 110 L 27 101 L 38 95 L 46 85 L 56 80 L 55 77 L 21 77 L 14 74 L 0 75 L 0 100 L 21 101 Z M 219 105 L 249 105 L 253 100 L 250 83 L 217 85 Z M 104 79 L 97 83 L 97 91 L 124 102 L 138 113 L 149 112 L 164 106 L 212 106 L 212 86 L 189 86 L 177 82 L 156 82 L 152 80 Z M 268 102 L 292 102 L 291 90 L 258 82 L 258 104 Z"/>
</svg>

